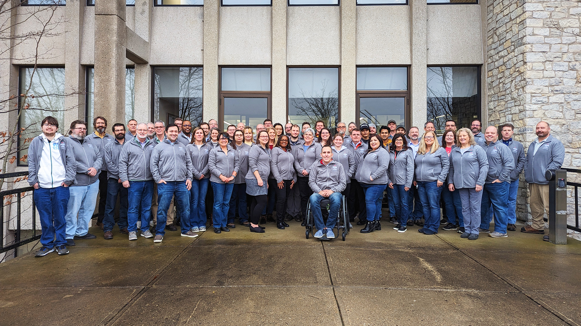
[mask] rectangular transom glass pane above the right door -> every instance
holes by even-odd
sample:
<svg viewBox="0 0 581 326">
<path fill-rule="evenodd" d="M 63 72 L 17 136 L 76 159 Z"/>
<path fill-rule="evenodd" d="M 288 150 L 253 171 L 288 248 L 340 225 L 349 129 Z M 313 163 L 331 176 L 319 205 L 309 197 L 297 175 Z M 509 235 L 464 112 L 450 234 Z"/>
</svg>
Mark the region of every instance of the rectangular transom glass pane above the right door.
<svg viewBox="0 0 581 326">
<path fill-rule="evenodd" d="M 357 90 L 407 90 L 407 67 L 357 67 Z"/>
</svg>

